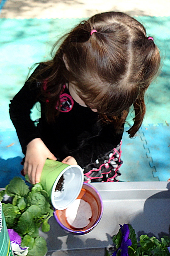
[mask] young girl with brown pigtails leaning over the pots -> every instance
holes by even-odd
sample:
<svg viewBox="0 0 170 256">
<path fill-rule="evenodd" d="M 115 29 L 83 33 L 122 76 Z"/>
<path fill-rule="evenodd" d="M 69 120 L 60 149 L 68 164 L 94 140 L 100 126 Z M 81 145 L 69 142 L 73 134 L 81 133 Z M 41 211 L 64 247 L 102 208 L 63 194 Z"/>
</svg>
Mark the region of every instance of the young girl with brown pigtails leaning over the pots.
<svg viewBox="0 0 170 256">
<path fill-rule="evenodd" d="M 47 158 L 79 164 L 85 181 L 117 181 L 120 144 L 131 106 L 141 126 L 144 94 L 160 66 L 152 37 L 129 15 L 105 12 L 62 38 L 52 60 L 40 63 L 10 104 L 25 154 L 24 174 L 39 182 Z M 35 126 L 30 109 L 41 103 Z"/>
</svg>

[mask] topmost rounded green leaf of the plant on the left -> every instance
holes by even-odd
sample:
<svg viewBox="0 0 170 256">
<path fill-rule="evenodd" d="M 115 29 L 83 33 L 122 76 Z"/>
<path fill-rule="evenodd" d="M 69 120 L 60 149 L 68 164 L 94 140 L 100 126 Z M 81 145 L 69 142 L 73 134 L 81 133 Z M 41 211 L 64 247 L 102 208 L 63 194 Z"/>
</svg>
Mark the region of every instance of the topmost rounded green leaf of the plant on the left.
<svg viewBox="0 0 170 256">
<path fill-rule="evenodd" d="M 6 187 L 6 193 L 9 196 L 25 196 L 29 192 L 29 186 L 25 184 L 23 179 L 15 177 L 10 181 L 10 184 Z"/>
</svg>

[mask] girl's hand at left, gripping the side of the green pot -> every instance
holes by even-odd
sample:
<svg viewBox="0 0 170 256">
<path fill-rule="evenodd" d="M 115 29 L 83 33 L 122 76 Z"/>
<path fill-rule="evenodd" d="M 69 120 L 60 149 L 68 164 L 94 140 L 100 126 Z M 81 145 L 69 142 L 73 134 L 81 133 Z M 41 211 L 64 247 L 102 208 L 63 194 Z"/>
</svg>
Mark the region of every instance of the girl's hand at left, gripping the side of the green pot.
<svg viewBox="0 0 170 256">
<path fill-rule="evenodd" d="M 24 174 L 28 174 L 32 184 L 39 183 L 47 158 L 57 160 L 40 138 L 29 142 L 25 155 Z"/>
</svg>

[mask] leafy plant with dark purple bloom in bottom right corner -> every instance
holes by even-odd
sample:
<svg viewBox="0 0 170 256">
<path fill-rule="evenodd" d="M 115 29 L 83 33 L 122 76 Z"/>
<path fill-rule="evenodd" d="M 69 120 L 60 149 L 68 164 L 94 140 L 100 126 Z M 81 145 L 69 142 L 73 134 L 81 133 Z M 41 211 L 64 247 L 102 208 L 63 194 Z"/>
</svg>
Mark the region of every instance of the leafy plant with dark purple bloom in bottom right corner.
<svg viewBox="0 0 170 256">
<path fill-rule="evenodd" d="M 113 236 L 114 252 L 107 256 L 170 256 L 170 237 L 163 236 L 158 240 L 155 236 L 141 235 L 137 242 L 136 234 L 130 224 L 120 225 L 119 232 Z M 127 241 L 129 242 L 127 246 Z"/>
</svg>

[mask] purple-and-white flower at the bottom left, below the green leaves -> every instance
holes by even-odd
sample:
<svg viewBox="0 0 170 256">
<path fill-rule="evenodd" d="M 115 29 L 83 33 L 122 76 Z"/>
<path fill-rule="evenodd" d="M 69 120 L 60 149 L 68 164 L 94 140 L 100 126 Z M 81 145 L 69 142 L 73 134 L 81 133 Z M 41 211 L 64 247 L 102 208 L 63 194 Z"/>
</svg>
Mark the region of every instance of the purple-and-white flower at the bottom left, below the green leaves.
<svg viewBox="0 0 170 256">
<path fill-rule="evenodd" d="M 29 247 L 21 247 L 21 237 L 19 234 L 13 229 L 8 229 L 8 234 L 10 236 L 11 247 L 14 255 L 26 256 L 28 254 Z"/>
</svg>

